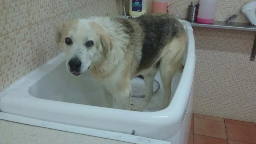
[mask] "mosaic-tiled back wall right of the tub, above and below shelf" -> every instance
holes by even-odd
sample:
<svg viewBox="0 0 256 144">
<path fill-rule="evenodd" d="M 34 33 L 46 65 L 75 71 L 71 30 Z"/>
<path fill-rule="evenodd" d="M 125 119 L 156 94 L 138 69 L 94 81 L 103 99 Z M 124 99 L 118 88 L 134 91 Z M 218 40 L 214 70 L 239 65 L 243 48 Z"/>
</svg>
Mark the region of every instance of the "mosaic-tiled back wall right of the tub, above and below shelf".
<svg viewBox="0 0 256 144">
<path fill-rule="evenodd" d="M 148 0 L 149 11 L 152 1 Z M 171 1 L 170 13 L 186 18 L 191 1 Z M 249 1 L 217 0 L 215 20 L 224 21 Z M 128 2 L 126 10 L 129 10 Z M 234 22 L 248 20 L 240 13 Z M 197 56 L 193 112 L 256 122 L 256 61 L 249 61 L 255 32 L 193 29 Z"/>
</svg>

